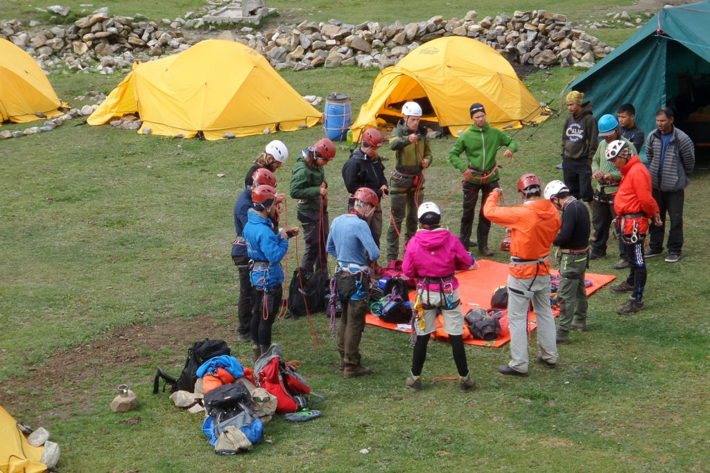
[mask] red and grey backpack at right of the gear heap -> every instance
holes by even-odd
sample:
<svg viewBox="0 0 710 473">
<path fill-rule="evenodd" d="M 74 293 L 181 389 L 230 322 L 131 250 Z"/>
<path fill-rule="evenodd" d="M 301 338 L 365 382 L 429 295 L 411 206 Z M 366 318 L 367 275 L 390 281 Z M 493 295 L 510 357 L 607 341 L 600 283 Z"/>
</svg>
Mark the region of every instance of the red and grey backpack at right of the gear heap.
<svg viewBox="0 0 710 473">
<path fill-rule="evenodd" d="M 308 406 L 310 387 L 293 366 L 283 361 L 278 343 L 256 360 L 254 372 L 257 385 L 276 397 L 277 414 L 300 411 Z"/>
</svg>

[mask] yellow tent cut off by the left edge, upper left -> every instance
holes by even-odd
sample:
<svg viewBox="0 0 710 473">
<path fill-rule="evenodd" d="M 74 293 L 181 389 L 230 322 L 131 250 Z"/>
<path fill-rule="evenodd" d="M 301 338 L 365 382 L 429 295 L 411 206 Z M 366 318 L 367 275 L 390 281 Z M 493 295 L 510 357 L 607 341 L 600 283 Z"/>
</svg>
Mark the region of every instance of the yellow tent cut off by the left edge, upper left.
<svg viewBox="0 0 710 473">
<path fill-rule="evenodd" d="M 21 48 L 0 38 L 0 123 L 26 123 L 61 115 L 62 101 L 42 69 Z"/>
</svg>

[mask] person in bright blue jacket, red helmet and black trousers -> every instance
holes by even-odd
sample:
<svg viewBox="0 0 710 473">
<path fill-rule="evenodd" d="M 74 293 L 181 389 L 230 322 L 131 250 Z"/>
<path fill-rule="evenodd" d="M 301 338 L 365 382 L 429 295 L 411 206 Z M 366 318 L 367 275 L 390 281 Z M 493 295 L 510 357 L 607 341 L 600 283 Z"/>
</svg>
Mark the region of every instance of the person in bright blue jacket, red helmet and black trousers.
<svg viewBox="0 0 710 473">
<path fill-rule="evenodd" d="M 284 280 L 281 260 L 288 251 L 288 239 L 298 235 L 293 227 L 275 234 L 273 218 L 278 196 L 271 186 L 257 186 L 251 191 L 253 207 L 249 209 L 244 226 L 246 254 L 253 260 L 251 279 L 251 358 L 256 361 L 271 346 L 271 325 L 276 318 L 283 297 Z"/>
</svg>

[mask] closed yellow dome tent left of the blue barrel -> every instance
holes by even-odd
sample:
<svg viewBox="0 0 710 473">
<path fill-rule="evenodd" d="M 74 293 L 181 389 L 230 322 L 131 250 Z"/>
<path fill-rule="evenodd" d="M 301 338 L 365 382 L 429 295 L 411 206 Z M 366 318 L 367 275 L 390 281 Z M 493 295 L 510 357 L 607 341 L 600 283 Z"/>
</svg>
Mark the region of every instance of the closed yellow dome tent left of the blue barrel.
<svg viewBox="0 0 710 473">
<path fill-rule="evenodd" d="M 208 140 L 314 126 L 321 113 L 268 61 L 234 41 L 205 40 L 176 55 L 133 65 L 89 125 L 138 112 L 138 133 Z M 267 130 L 268 128 L 268 130 Z M 143 130 L 146 130 L 145 132 Z"/>
</svg>

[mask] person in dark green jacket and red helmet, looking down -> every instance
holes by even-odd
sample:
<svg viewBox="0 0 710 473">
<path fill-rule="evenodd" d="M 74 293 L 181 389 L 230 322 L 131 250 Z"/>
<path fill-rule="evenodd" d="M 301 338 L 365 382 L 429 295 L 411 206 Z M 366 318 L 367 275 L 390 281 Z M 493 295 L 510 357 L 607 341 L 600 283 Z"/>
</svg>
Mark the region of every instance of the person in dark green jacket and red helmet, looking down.
<svg viewBox="0 0 710 473">
<path fill-rule="evenodd" d="M 296 216 L 303 228 L 303 259 L 301 269 L 314 272 L 315 265 L 322 274 L 328 274 L 328 184 L 323 166 L 335 157 L 335 145 L 328 138 L 318 140 L 296 159 L 291 172 L 290 193 L 298 199 Z"/>
</svg>

